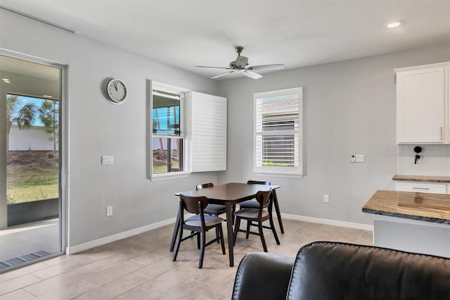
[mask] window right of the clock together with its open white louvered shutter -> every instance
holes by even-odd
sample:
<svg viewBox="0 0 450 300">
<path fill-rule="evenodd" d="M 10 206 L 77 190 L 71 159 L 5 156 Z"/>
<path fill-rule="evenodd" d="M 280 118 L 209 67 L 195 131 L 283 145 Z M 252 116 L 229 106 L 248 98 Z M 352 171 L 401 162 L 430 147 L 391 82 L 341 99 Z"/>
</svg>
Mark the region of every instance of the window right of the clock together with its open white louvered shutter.
<svg viewBox="0 0 450 300">
<path fill-rule="evenodd" d="M 148 177 L 226 170 L 226 98 L 148 80 Z"/>
</svg>

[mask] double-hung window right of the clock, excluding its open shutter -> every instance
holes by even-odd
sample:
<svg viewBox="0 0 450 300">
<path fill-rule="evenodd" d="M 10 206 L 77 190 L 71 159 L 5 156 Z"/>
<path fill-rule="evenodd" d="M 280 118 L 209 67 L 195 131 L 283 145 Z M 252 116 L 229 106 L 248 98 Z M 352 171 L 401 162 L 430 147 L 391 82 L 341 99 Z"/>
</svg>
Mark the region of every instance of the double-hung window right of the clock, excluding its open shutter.
<svg viewBox="0 0 450 300">
<path fill-rule="evenodd" d="M 152 82 L 151 178 L 186 174 L 186 90 Z"/>
</svg>

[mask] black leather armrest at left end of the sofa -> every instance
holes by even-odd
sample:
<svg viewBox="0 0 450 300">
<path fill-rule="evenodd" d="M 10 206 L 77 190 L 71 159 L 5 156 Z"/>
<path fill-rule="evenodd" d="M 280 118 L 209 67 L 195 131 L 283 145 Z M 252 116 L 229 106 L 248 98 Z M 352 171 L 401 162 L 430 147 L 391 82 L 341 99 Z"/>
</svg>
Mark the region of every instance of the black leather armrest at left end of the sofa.
<svg viewBox="0 0 450 300">
<path fill-rule="evenodd" d="M 239 263 L 232 299 L 286 299 L 294 261 L 264 252 L 246 254 Z"/>
</svg>

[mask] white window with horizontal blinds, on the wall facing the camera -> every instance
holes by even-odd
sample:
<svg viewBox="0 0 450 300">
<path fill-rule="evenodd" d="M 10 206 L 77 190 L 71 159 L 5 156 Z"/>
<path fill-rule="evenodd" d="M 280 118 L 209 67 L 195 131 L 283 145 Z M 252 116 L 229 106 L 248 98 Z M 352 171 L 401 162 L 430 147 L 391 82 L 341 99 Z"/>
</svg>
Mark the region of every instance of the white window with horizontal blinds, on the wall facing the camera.
<svg viewBox="0 0 450 300">
<path fill-rule="evenodd" d="M 254 172 L 301 176 L 302 87 L 254 94 Z"/>
</svg>

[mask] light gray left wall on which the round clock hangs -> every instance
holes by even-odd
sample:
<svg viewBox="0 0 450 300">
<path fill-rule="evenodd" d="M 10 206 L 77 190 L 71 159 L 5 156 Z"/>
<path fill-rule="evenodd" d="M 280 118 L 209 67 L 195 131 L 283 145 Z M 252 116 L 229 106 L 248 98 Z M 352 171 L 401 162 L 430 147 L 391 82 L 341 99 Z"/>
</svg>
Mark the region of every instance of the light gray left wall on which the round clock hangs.
<svg viewBox="0 0 450 300">
<path fill-rule="evenodd" d="M 174 192 L 217 182 L 214 173 L 158 182 L 146 174 L 146 80 L 208 94 L 217 94 L 216 82 L 1 9 L 0 30 L 0 48 L 69 65 L 68 115 L 61 116 L 68 125 L 69 246 L 174 218 Z M 107 77 L 127 83 L 124 104 L 103 96 Z M 113 155 L 114 165 L 101 165 L 102 155 Z M 106 218 L 110 205 L 114 214 Z"/>
</svg>

